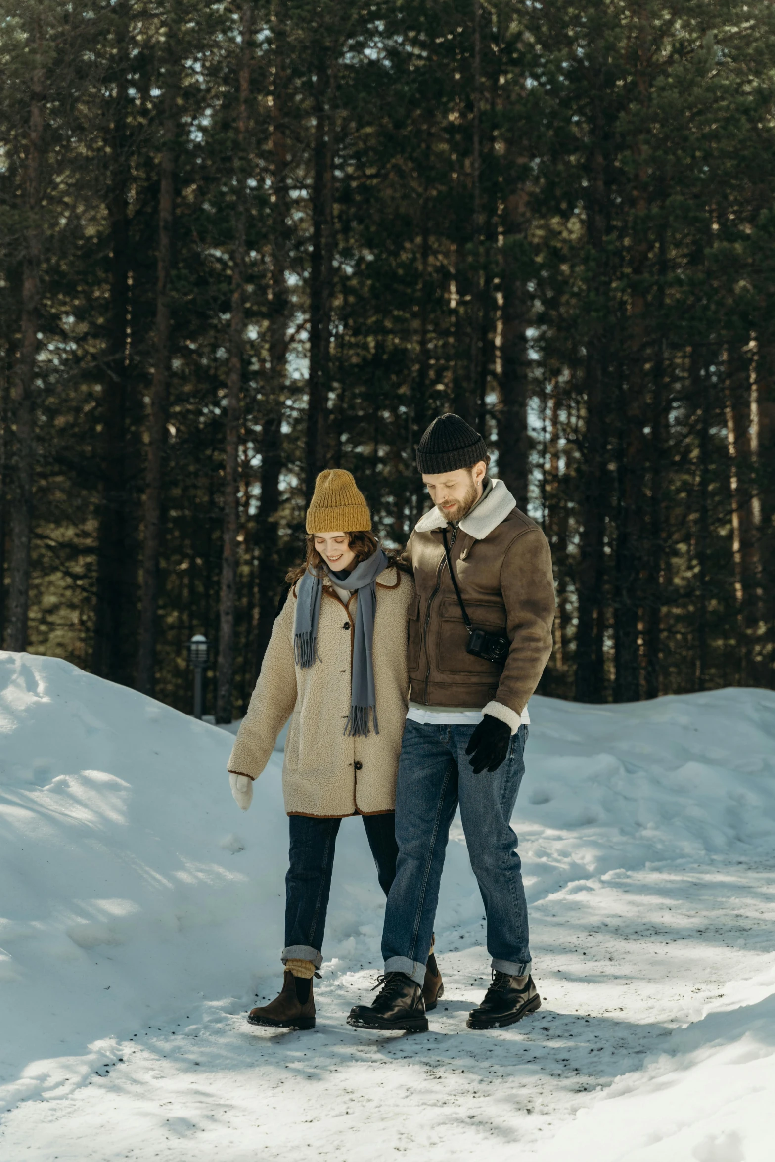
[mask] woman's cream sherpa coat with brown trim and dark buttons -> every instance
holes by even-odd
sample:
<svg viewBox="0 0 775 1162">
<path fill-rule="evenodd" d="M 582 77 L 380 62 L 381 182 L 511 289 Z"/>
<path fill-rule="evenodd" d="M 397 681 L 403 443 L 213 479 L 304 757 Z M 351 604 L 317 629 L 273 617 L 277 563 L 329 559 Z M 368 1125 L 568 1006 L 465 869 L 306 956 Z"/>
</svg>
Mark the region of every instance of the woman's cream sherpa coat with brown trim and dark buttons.
<svg viewBox="0 0 775 1162">
<path fill-rule="evenodd" d="M 344 734 L 350 713 L 356 594 L 345 605 L 323 581 L 317 627 L 318 661 L 294 665 L 292 590 L 278 616 L 247 713 L 235 739 L 229 770 L 257 779 L 277 737 L 293 715 L 282 765 L 288 815 L 338 819 L 395 809 L 395 781 L 407 717 L 407 611 L 415 586 L 407 573 L 385 569 L 376 581 L 372 658 L 380 732 Z M 349 631 L 349 632 L 347 632 Z"/>
</svg>

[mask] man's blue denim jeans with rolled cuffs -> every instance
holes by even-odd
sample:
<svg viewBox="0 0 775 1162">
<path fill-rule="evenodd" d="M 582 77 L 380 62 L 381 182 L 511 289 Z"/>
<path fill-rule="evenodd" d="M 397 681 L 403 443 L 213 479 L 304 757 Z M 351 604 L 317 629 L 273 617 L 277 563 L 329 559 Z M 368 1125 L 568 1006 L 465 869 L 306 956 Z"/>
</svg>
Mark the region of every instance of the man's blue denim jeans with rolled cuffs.
<svg viewBox="0 0 775 1162">
<path fill-rule="evenodd" d="M 460 803 L 468 859 L 487 916 L 493 968 L 510 976 L 530 971 L 528 904 L 511 812 L 525 773 L 528 727 L 512 736 L 491 774 L 475 775 L 466 754 L 474 726 L 408 722 L 401 745 L 395 803 L 399 861 L 382 930 L 386 973 L 425 976 L 450 825 Z"/>
</svg>

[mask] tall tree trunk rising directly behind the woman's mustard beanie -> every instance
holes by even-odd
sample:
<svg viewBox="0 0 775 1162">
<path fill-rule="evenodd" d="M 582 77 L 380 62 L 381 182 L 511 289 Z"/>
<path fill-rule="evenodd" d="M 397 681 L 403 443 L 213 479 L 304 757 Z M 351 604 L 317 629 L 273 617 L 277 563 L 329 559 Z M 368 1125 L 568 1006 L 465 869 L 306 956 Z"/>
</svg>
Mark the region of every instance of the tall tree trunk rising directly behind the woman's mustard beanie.
<svg viewBox="0 0 775 1162">
<path fill-rule="evenodd" d="M 307 504 L 329 460 L 331 303 L 333 277 L 333 152 L 336 67 L 322 43 L 315 77 L 313 150 L 313 254 L 309 272 L 309 380 L 307 409 Z"/>
</svg>

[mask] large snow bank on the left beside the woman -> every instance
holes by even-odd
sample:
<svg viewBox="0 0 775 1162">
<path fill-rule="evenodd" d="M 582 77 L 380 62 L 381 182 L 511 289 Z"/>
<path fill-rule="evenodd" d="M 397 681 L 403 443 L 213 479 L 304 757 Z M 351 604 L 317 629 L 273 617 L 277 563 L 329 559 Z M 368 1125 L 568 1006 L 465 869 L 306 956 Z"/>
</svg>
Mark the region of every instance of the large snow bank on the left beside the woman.
<svg viewBox="0 0 775 1162">
<path fill-rule="evenodd" d="M 245 817 L 231 741 L 58 659 L 0 653 L 0 1084 L 274 967 L 281 756 Z M 14 1093 L 45 1088 L 37 1073 Z"/>
</svg>

